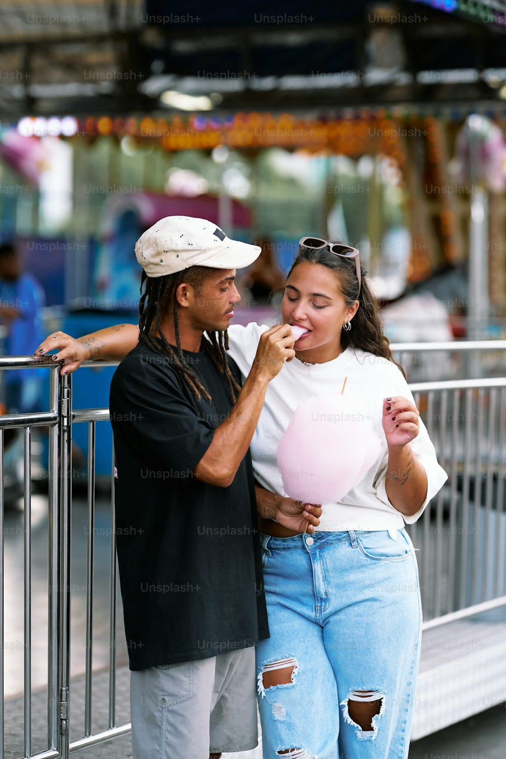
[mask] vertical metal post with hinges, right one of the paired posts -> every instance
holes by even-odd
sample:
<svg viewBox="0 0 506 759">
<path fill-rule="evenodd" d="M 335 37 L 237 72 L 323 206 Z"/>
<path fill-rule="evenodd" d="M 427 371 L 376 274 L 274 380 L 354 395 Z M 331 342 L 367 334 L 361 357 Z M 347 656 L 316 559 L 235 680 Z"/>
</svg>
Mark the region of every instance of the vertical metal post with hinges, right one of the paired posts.
<svg viewBox="0 0 506 759">
<path fill-rule="evenodd" d="M 61 759 L 70 754 L 69 679 L 71 656 L 71 487 L 72 487 L 72 409 L 71 376 L 59 377 L 60 418 L 58 432 L 60 439 L 60 739 Z"/>
</svg>

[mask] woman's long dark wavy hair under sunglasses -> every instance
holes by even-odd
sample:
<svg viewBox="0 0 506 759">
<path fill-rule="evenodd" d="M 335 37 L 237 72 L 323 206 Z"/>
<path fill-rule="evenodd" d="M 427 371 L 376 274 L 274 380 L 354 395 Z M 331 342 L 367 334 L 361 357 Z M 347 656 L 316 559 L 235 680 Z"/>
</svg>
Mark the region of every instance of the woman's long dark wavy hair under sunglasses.
<svg viewBox="0 0 506 759">
<path fill-rule="evenodd" d="M 332 242 L 347 245 L 347 243 L 342 243 L 341 240 L 333 240 Z M 394 361 L 390 343 L 383 333 L 383 326 L 379 317 L 378 299 L 369 287 L 369 282 L 366 278 L 367 272 L 363 264 L 360 263 L 362 283 L 360 293 L 357 295 L 358 279 L 354 259 L 346 260 L 340 256 L 336 256 L 327 248 L 314 250 L 310 247 L 300 247 L 299 254 L 288 272 L 287 279 L 295 267 L 302 261 L 319 263 L 328 269 L 332 269 L 338 275 L 336 279 L 338 279 L 339 289 L 346 306 L 353 306 L 355 301 L 359 301 L 360 303 L 357 313 L 355 313 L 355 316 L 351 320 L 351 329 L 348 331 L 345 329 L 341 330 L 341 345 L 343 350 L 350 346 L 350 348 L 359 348 L 361 351 L 387 358 L 388 361 L 391 361 L 401 370 L 404 379 L 406 379 L 404 369 L 397 361 Z"/>
</svg>

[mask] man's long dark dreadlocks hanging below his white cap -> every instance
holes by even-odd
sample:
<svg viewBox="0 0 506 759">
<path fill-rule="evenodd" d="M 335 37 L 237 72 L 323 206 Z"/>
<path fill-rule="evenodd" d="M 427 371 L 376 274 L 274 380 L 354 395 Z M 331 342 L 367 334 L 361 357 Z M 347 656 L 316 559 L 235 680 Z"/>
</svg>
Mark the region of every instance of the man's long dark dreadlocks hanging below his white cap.
<svg viewBox="0 0 506 759">
<path fill-rule="evenodd" d="M 149 345 L 152 351 L 161 353 L 168 357 L 172 366 L 178 374 L 184 379 L 190 387 L 193 395 L 200 400 L 205 398 L 211 400 L 209 392 L 200 382 L 195 371 L 187 363 L 181 348 L 181 339 L 179 336 L 179 318 L 178 318 L 178 299 L 175 297 L 176 291 L 181 282 L 188 282 L 192 285 L 195 294 L 200 295 L 203 282 L 209 277 L 209 267 L 207 266 L 190 266 L 181 272 L 166 274 L 162 277 L 147 277 L 143 272 L 140 282 L 140 302 L 139 302 L 139 339 L 141 342 Z M 146 281 L 146 288 L 142 291 L 143 282 Z M 146 305 L 147 300 L 147 305 Z M 167 313 L 171 305 L 174 314 L 174 332 L 176 335 L 176 345 L 171 345 L 165 339 L 162 332 L 162 317 Z M 156 332 L 158 331 L 162 345 L 156 341 Z M 228 383 L 228 393 L 234 403 L 240 391 L 240 385 L 237 383 L 234 375 L 231 373 L 227 361 L 228 351 L 228 332 L 209 332 L 206 330 L 208 339 L 203 339 L 203 348 L 211 357 L 213 364 L 218 372 L 225 376 Z"/>
</svg>

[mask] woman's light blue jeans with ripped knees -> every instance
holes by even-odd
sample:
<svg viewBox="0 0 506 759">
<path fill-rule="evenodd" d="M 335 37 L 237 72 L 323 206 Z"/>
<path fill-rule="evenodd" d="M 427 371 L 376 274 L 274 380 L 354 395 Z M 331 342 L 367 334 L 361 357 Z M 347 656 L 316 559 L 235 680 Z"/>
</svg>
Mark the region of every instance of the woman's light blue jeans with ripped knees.
<svg viewBox="0 0 506 759">
<path fill-rule="evenodd" d="M 260 537 L 264 759 L 406 759 L 422 624 L 407 532 Z"/>
</svg>

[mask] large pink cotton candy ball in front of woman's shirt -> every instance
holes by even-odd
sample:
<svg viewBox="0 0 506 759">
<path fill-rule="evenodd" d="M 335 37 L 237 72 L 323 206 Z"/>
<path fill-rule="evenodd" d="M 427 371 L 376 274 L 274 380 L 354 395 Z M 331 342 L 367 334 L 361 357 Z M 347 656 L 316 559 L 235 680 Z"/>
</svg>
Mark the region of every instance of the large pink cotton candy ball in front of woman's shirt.
<svg viewBox="0 0 506 759">
<path fill-rule="evenodd" d="M 360 398 L 323 394 L 297 406 L 276 458 L 288 496 L 304 503 L 335 503 L 381 453 L 370 409 Z"/>
</svg>

